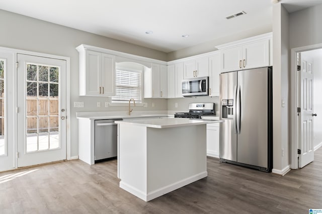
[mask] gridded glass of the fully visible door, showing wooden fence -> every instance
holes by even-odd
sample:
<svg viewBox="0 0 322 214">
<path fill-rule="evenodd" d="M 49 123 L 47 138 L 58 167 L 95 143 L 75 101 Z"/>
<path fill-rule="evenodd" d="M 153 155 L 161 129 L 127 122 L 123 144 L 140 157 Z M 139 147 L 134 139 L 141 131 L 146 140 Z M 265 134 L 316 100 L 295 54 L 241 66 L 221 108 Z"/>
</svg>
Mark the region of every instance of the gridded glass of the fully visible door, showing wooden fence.
<svg viewBox="0 0 322 214">
<path fill-rule="evenodd" d="M 59 68 L 27 64 L 26 151 L 59 148 Z"/>
</svg>

